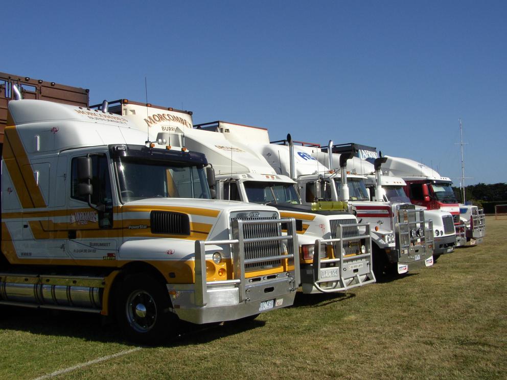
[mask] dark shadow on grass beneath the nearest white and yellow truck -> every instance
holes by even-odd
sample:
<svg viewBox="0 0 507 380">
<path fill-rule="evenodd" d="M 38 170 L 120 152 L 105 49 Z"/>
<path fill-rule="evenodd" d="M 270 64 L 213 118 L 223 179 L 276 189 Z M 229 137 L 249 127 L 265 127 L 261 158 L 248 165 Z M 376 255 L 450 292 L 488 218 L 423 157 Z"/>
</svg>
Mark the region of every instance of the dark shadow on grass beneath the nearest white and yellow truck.
<svg viewBox="0 0 507 380">
<path fill-rule="evenodd" d="M 179 334 L 173 335 L 168 338 L 167 343 L 158 346 L 175 347 L 211 342 L 262 327 L 265 323 L 257 320 L 240 320 L 205 325 L 181 322 L 181 326 L 178 328 Z M 121 329 L 116 323 L 97 314 L 0 306 L 0 329 L 133 346 L 125 340 Z"/>
</svg>

